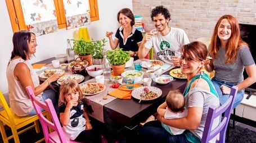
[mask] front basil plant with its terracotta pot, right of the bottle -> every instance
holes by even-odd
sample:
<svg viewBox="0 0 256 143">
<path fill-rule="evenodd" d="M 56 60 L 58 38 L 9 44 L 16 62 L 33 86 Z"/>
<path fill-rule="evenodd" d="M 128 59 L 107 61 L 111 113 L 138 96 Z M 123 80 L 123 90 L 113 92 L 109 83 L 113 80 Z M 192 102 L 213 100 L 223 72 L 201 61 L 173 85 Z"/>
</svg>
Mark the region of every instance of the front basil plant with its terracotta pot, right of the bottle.
<svg viewBox="0 0 256 143">
<path fill-rule="evenodd" d="M 125 63 L 129 61 L 130 56 L 128 51 L 123 51 L 122 48 L 107 50 L 107 58 L 111 64 L 114 75 L 119 76 L 124 72 Z"/>
</svg>

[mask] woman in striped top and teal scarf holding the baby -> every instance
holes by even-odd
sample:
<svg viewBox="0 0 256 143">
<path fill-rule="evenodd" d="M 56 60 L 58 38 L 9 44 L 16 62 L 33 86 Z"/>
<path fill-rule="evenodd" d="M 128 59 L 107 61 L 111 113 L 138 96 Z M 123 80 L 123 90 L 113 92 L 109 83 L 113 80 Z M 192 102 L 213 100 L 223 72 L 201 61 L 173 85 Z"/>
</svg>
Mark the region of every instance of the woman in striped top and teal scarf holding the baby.
<svg viewBox="0 0 256 143">
<path fill-rule="evenodd" d="M 219 99 L 209 76 L 200 72 L 207 56 L 206 46 L 194 41 L 183 45 L 181 48 L 181 72 L 187 75 L 187 86 L 183 93 L 187 117 L 165 119 L 158 114 L 158 121 L 147 122 L 139 131 L 141 142 L 201 142 L 206 116 L 210 105 L 219 107 Z M 168 126 L 186 130 L 181 135 L 171 135 L 161 123 Z M 213 123 L 213 128 L 218 126 L 219 118 Z"/>
</svg>

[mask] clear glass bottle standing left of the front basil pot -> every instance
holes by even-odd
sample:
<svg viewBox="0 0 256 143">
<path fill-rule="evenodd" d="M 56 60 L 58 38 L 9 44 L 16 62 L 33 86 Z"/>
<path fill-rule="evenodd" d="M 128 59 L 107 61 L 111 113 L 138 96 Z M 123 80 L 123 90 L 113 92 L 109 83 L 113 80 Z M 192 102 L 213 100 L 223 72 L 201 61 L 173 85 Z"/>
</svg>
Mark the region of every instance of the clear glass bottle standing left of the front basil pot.
<svg viewBox="0 0 256 143">
<path fill-rule="evenodd" d="M 103 75 L 105 76 L 105 80 L 110 80 L 111 79 L 111 66 L 110 66 L 109 59 L 107 58 L 106 49 L 103 50 L 102 70 L 103 70 Z"/>
</svg>

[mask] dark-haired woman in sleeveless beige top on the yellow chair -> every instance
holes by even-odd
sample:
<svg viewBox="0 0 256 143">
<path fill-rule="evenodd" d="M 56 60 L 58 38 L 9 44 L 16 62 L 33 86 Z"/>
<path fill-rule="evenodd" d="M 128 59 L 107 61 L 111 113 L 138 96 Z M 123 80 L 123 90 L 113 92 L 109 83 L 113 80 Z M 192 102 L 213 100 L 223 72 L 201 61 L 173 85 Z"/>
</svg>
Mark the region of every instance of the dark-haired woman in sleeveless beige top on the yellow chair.
<svg viewBox="0 0 256 143">
<path fill-rule="evenodd" d="M 6 76 L 10 106 L 13 112 L 20 117 L 37 114 L 29 95 L 26 93 L 26 86 L 32 86 L 35 95 L 42 102 L 50 98 L 52 103 L 56 105 L 57 110 L 55 91 L 46 89 L 51 82 L 59 79 L 60 73 L 50 76 L 40 85 L 38 75 L 33 71 L 33 67 L 29 63 L 29 59 L 35 53 L 37 47 L 35 34 L 25 30 L 18 31 L 14 33 L 12 43 L 14 44 L 14 49 L 7 66 Z"/>
</svg>

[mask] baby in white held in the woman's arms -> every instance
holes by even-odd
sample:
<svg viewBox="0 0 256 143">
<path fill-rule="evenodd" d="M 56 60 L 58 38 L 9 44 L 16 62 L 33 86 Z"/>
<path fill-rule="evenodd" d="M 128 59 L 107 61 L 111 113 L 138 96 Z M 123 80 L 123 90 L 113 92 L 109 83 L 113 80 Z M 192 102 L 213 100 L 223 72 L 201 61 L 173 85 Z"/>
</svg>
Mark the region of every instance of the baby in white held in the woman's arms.
<svg viewBox="0 0 256 143">
<path fill-rule="evenodd" d="M 176 119 L 187 116 L 185 109 L 185 98 L 179 90 L 169 91 L 165 102 L 158 107 L 158 114 L 165 119 Z M 171 135 L 180 135 L 185 130 L 168 126 L 161 123 L 163 128 Z"/>
</svg>

